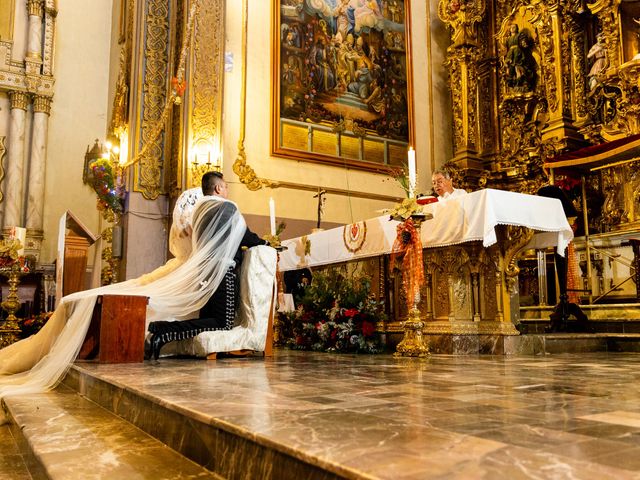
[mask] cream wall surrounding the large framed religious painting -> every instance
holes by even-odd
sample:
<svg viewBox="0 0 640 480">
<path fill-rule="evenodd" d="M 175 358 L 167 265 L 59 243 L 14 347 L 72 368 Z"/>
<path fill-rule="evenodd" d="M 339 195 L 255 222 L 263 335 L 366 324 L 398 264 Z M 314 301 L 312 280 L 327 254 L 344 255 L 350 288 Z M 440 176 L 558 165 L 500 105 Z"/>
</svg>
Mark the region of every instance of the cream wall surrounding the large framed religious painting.
<svg viewBox="0 0 640 480">
<path fill-rule="evenodd" d="M 269 197 L 276 203 L 276 215 L 280 219 L 295 218 L 315 222 L 317 200 L 314 192 L 291 188 L 261 189 L 250 192 L 238 182 L 232 171 L 238 152 L 240 125 L 240 98 L 242 81 L 242 11 L 240 2 L 227 1 L 225 51 L 233 53 L 232 71 L 226 73 L 224 85 L 224 173 L 231 182 L 231 197 L 241 209 L 256 216 L 269 215 Z M 442 51 L 446 42 L 441 39 L 428 40 L 436 34 L 446 40 L 446 31 L 437 18 L 437 6 L 428 2 L 411 2 L 413 94 L 415 149 L 418 171 L 418 191 L 431 189 L 431 171 L 436 165 L 451 158 L 450 96 L 446 88 L 446 76 L 442 66 Z M 271 122 L 271 2 L 249 0 L 248 19 L 248 65 L 247 65 L 247 110 L 245 149 L 247 164 L 259 177 L 270 180 L 348 190 L 357 194 L 352 197 L 340 194 L 327 195 L 323 222 L 352 223 L 380 215 L 379 210 L 391 206 L 391 201 L 360 198 L 368 193 L 401 197 L 404 195 L 398 184 L 387 175 L 372 174 L 315 163 L 272 157 L 270 151 Z M 444 45 L 444 46 L 443 46 Z M 434 48 L 431 65 L 427 49 Z M 429 68 L 431 66 L 431 68 Z M 435 75 L 434 82 L 430 79 Z M 266 232 L 258 232 L 266 233 Z M 285 231 L 284 237 L 289 237 Z"/>
</svg>

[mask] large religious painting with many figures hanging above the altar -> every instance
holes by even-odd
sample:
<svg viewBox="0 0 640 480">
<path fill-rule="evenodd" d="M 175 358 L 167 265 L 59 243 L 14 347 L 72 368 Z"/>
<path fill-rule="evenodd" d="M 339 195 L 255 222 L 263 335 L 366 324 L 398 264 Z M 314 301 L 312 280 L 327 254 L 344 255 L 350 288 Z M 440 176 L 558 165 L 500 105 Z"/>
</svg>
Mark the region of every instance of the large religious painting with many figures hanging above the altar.
<svg viewBox="0 0 640 480">
<path fill-rule="evenodd" d="M 371 171 L 413 139 L 408 0 L 275 0 L 272 154 Z"/>
</svg>

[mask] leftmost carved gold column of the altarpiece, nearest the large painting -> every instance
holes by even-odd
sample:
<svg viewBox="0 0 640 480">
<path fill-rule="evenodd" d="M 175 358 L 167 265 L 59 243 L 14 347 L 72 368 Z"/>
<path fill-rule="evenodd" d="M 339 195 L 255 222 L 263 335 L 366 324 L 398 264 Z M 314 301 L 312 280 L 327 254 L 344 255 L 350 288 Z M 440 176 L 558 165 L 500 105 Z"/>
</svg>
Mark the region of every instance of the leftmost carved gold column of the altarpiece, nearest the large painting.
<svg viewBox="0 0 640 480">
<path fill-rule="evenodd" d="M 466 170 L 482 170 L 478 112 L 478 24 L 485 13 L 484 0 L 440 0 L 438 15 L 450 27 L 451 45 L 445 65 L 453 100 L 454 158 Z"/>
</svg>

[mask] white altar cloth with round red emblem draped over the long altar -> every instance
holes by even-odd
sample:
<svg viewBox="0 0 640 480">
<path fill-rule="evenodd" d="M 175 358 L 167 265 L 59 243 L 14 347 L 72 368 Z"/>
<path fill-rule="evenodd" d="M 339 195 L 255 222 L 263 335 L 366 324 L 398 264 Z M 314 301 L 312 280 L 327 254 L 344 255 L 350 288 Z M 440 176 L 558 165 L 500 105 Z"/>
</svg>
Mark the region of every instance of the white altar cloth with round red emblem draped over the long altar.
<svg viewBox="0 0 640 480">
<path fill-rule="evenodd" d="M 564 253 L 573 232 L 560 200 L 503 190 L 485 189 L 424 206 L 433 219 L 422 223 L 425 248 L 482 240 L 485 247 L 498 239 L 496 226 L 516 225 L 538 232 L 527 248 L 556 246 Z M 280 253 L 281 271 L 328 265 L 391 253 L 397 221 L 389 215 L 337 227 L 306 236 L 311 242 L 305 255 L 305 237 L 284 240 L 288 249 Z"/>
</svg>

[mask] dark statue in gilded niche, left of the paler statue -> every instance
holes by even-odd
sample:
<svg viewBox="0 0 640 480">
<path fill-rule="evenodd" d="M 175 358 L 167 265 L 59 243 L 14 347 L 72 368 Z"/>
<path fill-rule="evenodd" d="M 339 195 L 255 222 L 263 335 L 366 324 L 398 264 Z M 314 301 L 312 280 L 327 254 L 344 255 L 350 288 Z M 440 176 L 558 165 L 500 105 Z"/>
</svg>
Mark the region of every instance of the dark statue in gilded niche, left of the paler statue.
<svg viewBox="0 0 640 480">
<path fill-rule="evenodd" d="M 507 86 L 522 91 L 533 91 L 537 81 L 538 64 L 533 57 L 533 38 L 527 30 L 520 31 L 515 23 L 509 27 L 511 35 L 505 46 Z"/>
</svg>

